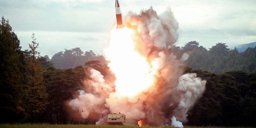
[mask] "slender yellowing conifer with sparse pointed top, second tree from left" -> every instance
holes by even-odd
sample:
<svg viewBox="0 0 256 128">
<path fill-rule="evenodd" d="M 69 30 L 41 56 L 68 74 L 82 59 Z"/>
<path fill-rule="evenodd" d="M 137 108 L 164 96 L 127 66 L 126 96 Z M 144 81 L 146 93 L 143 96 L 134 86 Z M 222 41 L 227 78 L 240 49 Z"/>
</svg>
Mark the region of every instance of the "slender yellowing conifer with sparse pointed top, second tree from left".
<svg viewBox="0 0 256 128">
<path fill-rule="evenodd" d="M 40 53 L 36 51 L 39 44 L 36 42 L 34 34 L 32 34 L 32 44 L 29 44 L 29 56 L 26 57 L 28 62 L 28 83 L 26 86 L 28 108 L 27 112 L 30 115 L 31 122 L 34 122 L 36 114 L 40 114 L 45 111 L 48 104 L 46 93 L 46 86 L 43 82 L 43 69 L 40 61 Z"/>
</svg>

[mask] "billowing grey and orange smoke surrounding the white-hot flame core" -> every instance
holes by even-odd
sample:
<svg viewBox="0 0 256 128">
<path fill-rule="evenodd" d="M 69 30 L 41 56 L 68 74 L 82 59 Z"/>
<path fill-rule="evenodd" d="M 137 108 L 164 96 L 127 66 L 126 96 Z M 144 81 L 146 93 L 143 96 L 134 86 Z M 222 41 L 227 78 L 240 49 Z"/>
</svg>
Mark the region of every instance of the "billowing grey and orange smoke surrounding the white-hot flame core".
<svg viewBox="0 0 256 128">
<path fill-rule="evenodd" d="M 186 113 L 202 96 L 206 81 L 197 78 L 196 74 L 184 74 L 189 55 L 184 53 L 177 58 L 172 49 L 178 40 L 178 22 L 171 10 L 159 16 L 152 7 L 140 14 L 129 12 L 124 26 L 132 30 L 134 49 L 150 64 L 149 74 L 154 76 L 152 86 L 134 96 L 127 96 L 116 91 L 112 77 L 104 77 L 97 70 L 89 69 L 90 79 L 84 82 L 86 88 L 78 91 L 78 98 L 71 100 L 69 106 L 82 118 L 98 118 L 96 124 L 106 124 L 109 112 L 121 112 L 126 114 L 126 118 L 140 120 L 144 124 L 183 127 L 182 122 L 187 121 Z M 105 56 L 108 54 L 106 50 Z M 117 54 L 122 55 L 122 49 Z M 122 60 L 124 64 L 132 60 L 132 56 L 131 59 L 126 57 Z M 136 74 L 138 69 L 135 66 L 124 66 L 118 70 L 128 69 Z M 122 80 L 136 82 L 132 75 Z"/>
</svg>

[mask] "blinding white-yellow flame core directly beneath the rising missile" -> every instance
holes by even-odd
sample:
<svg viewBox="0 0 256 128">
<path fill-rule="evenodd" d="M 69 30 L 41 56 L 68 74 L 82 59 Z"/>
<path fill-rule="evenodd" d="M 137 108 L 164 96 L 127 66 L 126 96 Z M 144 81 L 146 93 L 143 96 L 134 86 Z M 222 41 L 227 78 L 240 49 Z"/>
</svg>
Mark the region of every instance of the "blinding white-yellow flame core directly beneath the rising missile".
<svg viewBox="0 0 256 128">
<path fill-rule="evenodd" d="M 116 75 L 116 92 L 129 98 L 146 92 L 156 81 L 147 57 L 136 51 L 138 43 L 132 35 L 132 29 L 112 29 L 109 46 L 104 50 L 106 60 L 110 60 L 108 66 Z"/>
</svg>

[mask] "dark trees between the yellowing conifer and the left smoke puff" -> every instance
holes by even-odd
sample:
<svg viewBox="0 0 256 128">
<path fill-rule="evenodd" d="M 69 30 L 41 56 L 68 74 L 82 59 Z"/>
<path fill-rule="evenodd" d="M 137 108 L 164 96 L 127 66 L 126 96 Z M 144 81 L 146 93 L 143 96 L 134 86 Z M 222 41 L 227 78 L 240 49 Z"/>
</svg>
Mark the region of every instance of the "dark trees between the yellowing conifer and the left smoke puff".
<svg viewBox="0 0 256 128">
<path fill-rule="evenodd" d="M 74 69 L 56 69 L 49 66 L 44 71 L 44 82 L 48 90 L 48 110 L 45 120 L 49 123 L 66 124 L 69 115 L 66 101 L 73 98 L 73 93 L 83 85 L 85 78 L 84 68 L 78 66 Z"/>
</svg>

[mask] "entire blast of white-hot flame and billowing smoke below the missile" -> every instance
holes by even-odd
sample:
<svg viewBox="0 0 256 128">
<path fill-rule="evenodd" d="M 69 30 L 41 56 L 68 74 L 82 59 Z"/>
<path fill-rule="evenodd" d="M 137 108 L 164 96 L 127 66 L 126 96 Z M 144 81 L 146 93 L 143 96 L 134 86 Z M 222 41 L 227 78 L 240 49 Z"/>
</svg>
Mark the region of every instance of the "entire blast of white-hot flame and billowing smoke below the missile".
<svg viewBox="0 0 256 128">
<path fill-rule="evenodd" d="M 130 12 L 124 21 L 126 28 L 112 29 L 104 50 L 116 79 L 88 69 L 86 90 L 80 90 L 69 106 L 83 118 L 99 118 L 96 124 L 106 124 L 109 112 L 121 112 L 138 124 L 183 127 L 206 81 L 183 74 L 189 55 L 177 59 L 173 53 L 178 23 L 172 12 L 158 16 L 151 7 L 139 15 Z"/>
</svg>

